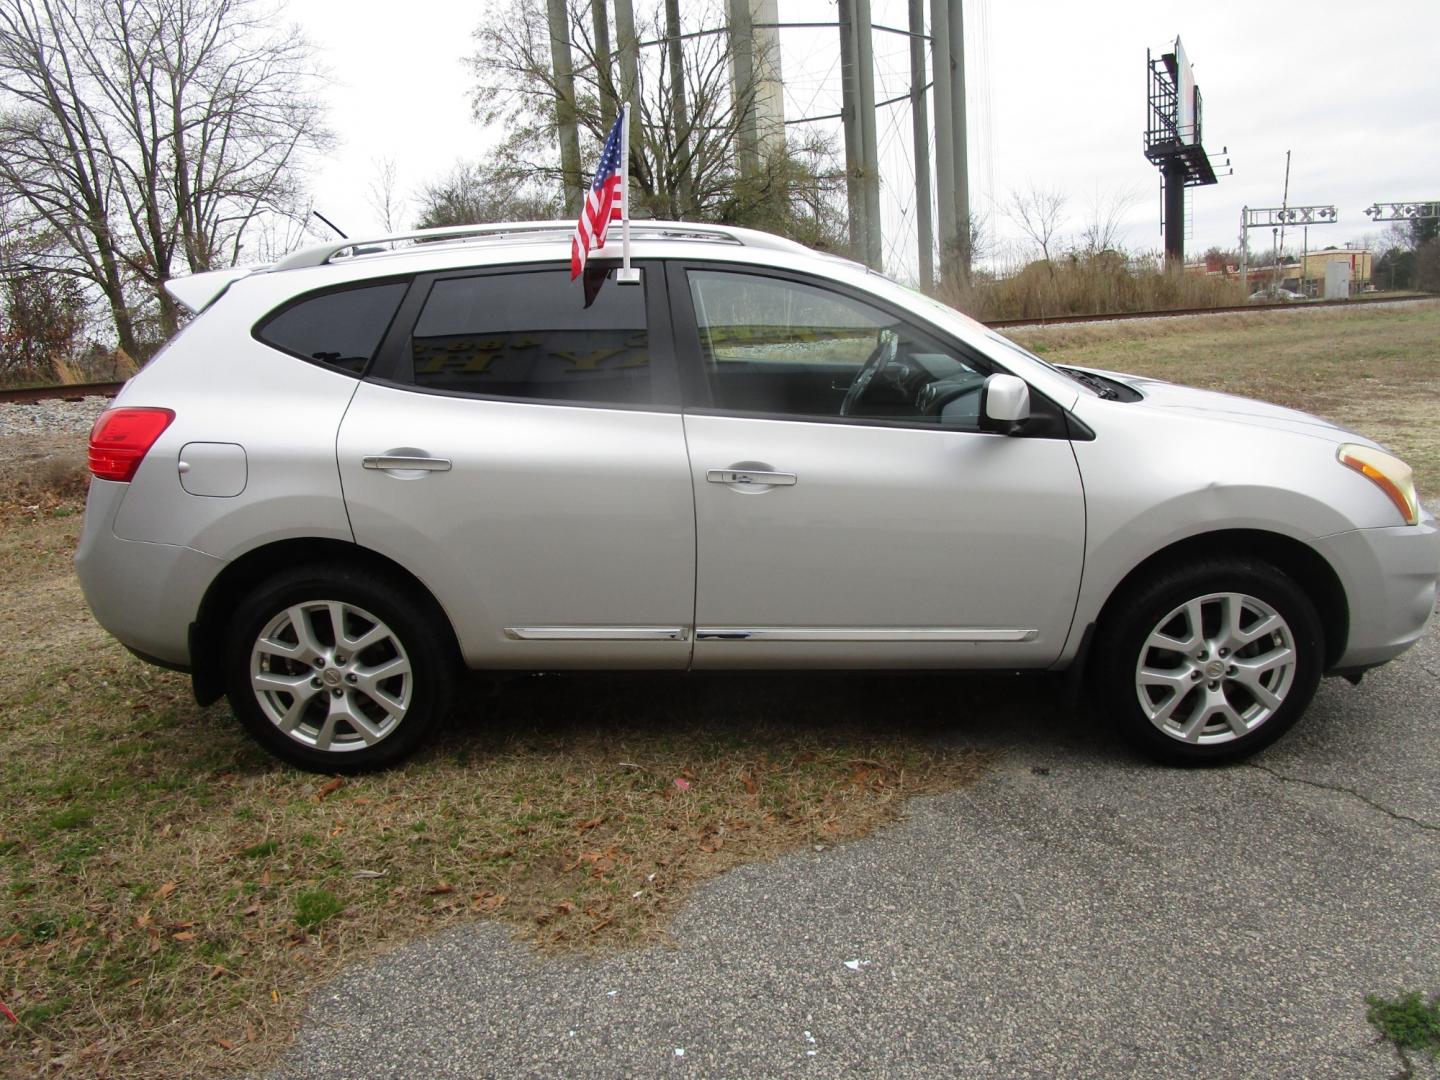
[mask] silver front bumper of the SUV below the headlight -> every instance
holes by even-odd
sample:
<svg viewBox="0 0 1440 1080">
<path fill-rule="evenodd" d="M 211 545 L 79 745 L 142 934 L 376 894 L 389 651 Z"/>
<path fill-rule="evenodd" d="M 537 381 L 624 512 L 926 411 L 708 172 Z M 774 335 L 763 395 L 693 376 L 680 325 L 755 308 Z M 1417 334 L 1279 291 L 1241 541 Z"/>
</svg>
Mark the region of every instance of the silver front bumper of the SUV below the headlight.
<svg viewBox="0 0 1440 1080">
<path fill-rule="evenodd" d="M 1440 577 L 1433 517 L 1418 526 L 1339 533 L 1315 547 L 1339 573 L 1349 599 L 1349 641 L 1336 671 L 1384 664 L 1416 644 L 1434 613 Z"/>
</svg>

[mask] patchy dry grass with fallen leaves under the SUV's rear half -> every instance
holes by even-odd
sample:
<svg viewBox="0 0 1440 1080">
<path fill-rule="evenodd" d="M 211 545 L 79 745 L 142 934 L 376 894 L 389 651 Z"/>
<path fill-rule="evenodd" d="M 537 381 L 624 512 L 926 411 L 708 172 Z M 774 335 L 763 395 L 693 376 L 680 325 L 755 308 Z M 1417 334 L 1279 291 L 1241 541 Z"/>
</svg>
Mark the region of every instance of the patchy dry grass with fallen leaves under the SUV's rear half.
<svg viewBox="0 0 1440 1080">
<path fill-rule="evenodd" d="M 346 963 L 478 917 L 651 942 L 707 878 L 982 768 L 930 737 L 952 701 L 890 680 L 583 677 L 475 685 L 395 772 L 298 773 L 94 625 L 76 531 L 63 501 L 0 511 L 4 1076 L 255 1067 Z"/>
</svg>

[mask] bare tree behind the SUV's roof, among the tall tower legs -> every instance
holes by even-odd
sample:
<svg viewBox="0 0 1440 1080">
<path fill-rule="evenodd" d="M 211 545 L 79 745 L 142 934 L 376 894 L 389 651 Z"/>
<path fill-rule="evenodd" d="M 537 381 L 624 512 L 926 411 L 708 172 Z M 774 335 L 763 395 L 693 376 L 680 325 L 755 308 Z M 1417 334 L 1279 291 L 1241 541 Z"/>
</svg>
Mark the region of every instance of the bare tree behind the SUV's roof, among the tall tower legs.
<svg viewBox="0 0 1440 1080">
<path fill-rule="evenodd" d="M 566 0 L 573 50 L 575 111 L 593 161 L 622 98 L 619 60 L 611 50 L 618 35 L 595 33 L 588 0 Z M 838 246 L 844 232 L 840 206 L 842 173 L 824 138 L 792 141 L 757 170 L 739 167 L 736 147 L 755 88 L 732 86 L 729 37 L 719 4 L 685 9 L 685 20 L 667 29 L 652 4 L 636 16 L 645 48 L 638 63 L 639 108 L 631 118 L 634 209 L 667 219 L 721 220 L 769 228 L 816 246 Z M 680 40 L 680 63 L 667 62 L 665 42 Z M 471 59 L 478 88 L 475 115 L 511 132 L 497 151 L 498 174 L 563 181 L 556 150 L 557 102 L 569 98 L 554 78 L 550 30 L 543 0 L 497 6 L 475 32 Z M 671 52 L 671 58 L 665 53 Z M 759 69 L 762 65 L 756 63 Z M 677 79 L 680 81 L 677 85 Z M 675 101 L 685 101 L 677 109 Z"/>
</svg>

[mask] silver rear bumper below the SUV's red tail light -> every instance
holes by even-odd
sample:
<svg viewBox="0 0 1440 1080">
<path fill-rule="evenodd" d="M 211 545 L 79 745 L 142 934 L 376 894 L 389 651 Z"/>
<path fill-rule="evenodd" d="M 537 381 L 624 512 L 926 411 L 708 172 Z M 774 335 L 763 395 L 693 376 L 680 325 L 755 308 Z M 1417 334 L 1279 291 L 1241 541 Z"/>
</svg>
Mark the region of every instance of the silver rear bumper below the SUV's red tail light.
<svg viewBox="0 0 1440 1080">
<path fill-rule="evenodd" d="M 190 624 L 222 559 L 177 544 L 121 540 L 115 513 L 128 484 L 92 480 L 75 573 L 96 622 L 131 652 L 189 670 Z"/>
</svg>

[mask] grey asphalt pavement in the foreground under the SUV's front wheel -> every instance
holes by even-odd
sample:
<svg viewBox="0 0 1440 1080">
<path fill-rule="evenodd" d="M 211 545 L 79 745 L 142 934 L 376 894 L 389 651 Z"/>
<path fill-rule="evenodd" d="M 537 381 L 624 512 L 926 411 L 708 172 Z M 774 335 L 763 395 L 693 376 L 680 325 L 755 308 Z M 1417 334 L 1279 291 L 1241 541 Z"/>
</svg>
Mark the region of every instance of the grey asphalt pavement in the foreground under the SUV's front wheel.
<svg viewBox="0 0 1440 1080">
<path fill-rule="evenodd" d="M 1397 1074 L 1364 999 L 1440 992 L 1434 624 L 1228 769 L 1136 759 L 1053 680 L 946 687 L 946 742 L 998 752 L 973 786 L 713 881 L 672 946 L 416 942 L 317 992 L 269 1076 Z"/>
</svg>

